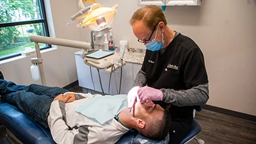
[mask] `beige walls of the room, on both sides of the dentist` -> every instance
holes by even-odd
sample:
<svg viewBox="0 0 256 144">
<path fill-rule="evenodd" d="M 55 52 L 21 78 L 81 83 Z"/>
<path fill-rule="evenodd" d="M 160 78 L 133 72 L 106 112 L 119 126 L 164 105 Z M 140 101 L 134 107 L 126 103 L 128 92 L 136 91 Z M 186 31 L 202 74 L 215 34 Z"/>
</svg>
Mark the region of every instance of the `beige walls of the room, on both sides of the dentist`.
<svg viewBox="0 0 256 144">
<path fill-rule="evenodd" d="M 112 25 L 114 42 L 126 39 L 129 47 L 145 49 L 129 25 L 132 13 L 140 8 L 138 2 L 99 2 L 119 4 Z M 51 10 L 56 37 L 90 42 L 89 29 L 78 29 L 74 23 L 65 26 L 65 20 L 79 10 L 77 1 L 51 1 Z M 171 29 L 191 37 L 204 52 L 210 86 L 207 104 L 256 116 L 256 1 L 204 0 L 202 6 L 167 6 L 164 13 Z M 79 50 L 58 47 L 42 54 L 47 84 L 65 86 L 77 80 L 75 51 Z M 4 76 L 19 84 L 33 82 L 29 67 L 30 58 L 0 65 Z"/>
</svg>

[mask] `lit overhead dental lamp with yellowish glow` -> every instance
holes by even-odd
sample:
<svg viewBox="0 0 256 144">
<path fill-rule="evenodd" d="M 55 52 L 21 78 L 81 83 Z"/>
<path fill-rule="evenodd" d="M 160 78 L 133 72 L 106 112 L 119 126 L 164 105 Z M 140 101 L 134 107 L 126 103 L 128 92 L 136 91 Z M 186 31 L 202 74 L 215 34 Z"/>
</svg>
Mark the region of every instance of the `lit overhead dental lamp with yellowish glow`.
<svg viewBox="0 0 256 144">
<path fill-rule="evenodd" d="M 85 7 L 83 3 L 92 3 L 92 5 Z M 70 20 L 83 19 L 83 21 L 77 24 L 77 27 L 89 28 L 92 31 L 102 31 L 102 29 L 106 29 L 112 24 L 117 6 L 118 4 L 115 4 L 111 8 L 108 8 L 102 6 L 102 4 L 95 0 L 81 0 L 79 1 L 81 10 L 72 15 Z"/>
</svg>

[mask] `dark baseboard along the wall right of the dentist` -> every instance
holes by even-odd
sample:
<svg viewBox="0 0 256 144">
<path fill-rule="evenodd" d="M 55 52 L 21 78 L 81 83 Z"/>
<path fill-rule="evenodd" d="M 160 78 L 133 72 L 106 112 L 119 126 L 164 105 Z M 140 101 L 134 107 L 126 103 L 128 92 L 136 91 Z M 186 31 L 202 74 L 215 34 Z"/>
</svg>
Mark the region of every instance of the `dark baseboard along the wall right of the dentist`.
<svg viewBox="0 0 256 144">
<path fill-rule="evenodd" d="M 235 116 L 237 118 L 243 118 L 244 120 L 250 120 L 250 121 L 256 122 L 256 116 L 248 115 L 248 114 L 245 114 L 245 113 L 240 113 L 240 112 L 237 112 L 237 111 L 232 111 L 232 110 L 229 110 L 229 109 L 218 108 L 216 106 L 210 106 L 210 105 L 205 105 L 203 107 L 203 109 L 207 109 L 209 111 L 214 111 L 214 112 L 217 112 L 217 113 L 222 113 L 222 114 L 225 114 L 225 115 Z"/>
</svg>

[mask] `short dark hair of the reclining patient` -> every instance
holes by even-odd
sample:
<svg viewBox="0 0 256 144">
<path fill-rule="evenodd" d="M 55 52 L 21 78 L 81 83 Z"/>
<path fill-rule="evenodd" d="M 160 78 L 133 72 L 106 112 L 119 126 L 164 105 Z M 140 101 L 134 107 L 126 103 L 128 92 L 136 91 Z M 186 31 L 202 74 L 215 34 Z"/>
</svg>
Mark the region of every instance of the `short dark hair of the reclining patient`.
<svg viewBox="0 0 256 144">
<path fill-rule="evenodd" d="M 169 108 L 164 109 L 163 118 L 145 118 L 145 129 L 140 134 L 152 140 L 163 140 L 169 131 L 170 113 Z"/>
</svg>

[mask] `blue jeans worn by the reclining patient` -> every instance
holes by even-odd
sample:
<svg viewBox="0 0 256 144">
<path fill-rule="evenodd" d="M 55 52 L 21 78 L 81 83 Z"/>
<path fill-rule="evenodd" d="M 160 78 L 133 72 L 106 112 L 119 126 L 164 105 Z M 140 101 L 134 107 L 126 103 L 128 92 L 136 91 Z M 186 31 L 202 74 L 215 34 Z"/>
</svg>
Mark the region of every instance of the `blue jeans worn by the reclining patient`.
<svg viewBox="0 0 256 144">
<path fill-rule="evenodd" d="M 49 129 L 47 117 L 52 100 L 57 95 L 65 92 L 68 92 L 68 90 L 38 84 L 17 85 L 11 81 L 0 79 L 1 97 L 46 129 Z"/>
</svg>

